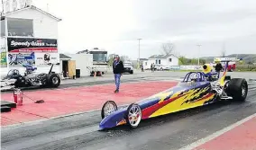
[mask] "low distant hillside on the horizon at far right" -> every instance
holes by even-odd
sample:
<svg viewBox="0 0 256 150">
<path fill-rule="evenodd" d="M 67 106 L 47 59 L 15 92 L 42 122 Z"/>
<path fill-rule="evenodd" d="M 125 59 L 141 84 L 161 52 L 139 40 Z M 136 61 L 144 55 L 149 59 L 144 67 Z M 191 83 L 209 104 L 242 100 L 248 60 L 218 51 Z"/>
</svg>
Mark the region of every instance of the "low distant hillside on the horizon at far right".
<svg viewBox="0 0 256 150">
<path fill-rule="evenodd" d="M 237 58 L 242 58 L 242 60 L 245 63 L 249 63 L 249 62 L 256 63 L 256 54 L 232 54 L 226 57 L 237 57 Z M 201 59 L 205 59 L 207 63 L 214 61 L 214 57 L 201 57 Z"/>
</svg>

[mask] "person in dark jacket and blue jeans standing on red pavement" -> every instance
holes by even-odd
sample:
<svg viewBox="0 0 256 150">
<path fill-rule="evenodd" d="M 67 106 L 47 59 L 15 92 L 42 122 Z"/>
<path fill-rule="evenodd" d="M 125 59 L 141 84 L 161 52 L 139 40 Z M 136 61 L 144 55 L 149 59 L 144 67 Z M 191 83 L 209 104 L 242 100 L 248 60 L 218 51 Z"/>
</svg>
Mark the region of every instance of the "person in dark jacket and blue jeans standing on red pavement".
<svg viewBox="0 0 256 150">
<path fill-rule="evenodd" d="M 120 60 L 119 56 L 116 56 L 114 58 L 113 73 L 114 73 L 114 82 L 116 87 L 114 93 L 119 93 L 120 78 L 121 78 L 121 75 L 123 74 L 123 61 Z"/>
</svg>

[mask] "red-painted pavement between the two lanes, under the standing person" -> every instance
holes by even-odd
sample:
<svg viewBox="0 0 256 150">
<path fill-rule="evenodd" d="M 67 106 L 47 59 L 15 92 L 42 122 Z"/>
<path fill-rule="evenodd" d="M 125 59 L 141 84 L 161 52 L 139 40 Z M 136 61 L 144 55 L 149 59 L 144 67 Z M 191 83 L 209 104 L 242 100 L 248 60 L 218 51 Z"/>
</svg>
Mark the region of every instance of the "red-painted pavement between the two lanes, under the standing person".
<svg viewBox="0 0 256 150">
<path fill-rule="evenodd" d="M 115 101 L 117 105 L 129 104 L 160 93 L 176 84 L 178 82 L 173 81 L 123 83 L 120 86 L 120 93 L 114 93 L 114 84 L 23 91 L 23 106 L 17 105 L 10 112 L 1 113 L 1 127 L 98 110 L 108 100 Z M 1 100 L 14 101 L 14 94 L 2 93 Z M 34 103 L 39 100 L 43 100 L 44 103 Z"/>
</svg>

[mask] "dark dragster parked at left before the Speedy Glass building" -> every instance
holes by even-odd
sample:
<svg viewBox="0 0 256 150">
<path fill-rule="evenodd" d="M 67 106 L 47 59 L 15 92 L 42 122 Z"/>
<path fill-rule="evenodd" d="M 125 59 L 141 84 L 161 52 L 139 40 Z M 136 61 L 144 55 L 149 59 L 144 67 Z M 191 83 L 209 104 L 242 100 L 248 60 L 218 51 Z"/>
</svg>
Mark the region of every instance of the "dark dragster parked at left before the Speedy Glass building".
<svg viewBox="0 0 256 150">
<path fill-rule="evenodd" d="M 60 84 L 60 76 L 52 72 L 54 64 L 49 65 L 51 66 L 48 74 L 35 74 L 34 71 L 37 70 L 37 68 L 31 65 L 23 65 L 26 68 L 24 75 L 21 75 L 17 69 L 11 69 L 4 79 L 1 80 L 1 90 L 29 86 L 58 87 Z"/>
</svg>

